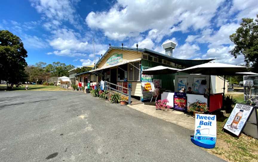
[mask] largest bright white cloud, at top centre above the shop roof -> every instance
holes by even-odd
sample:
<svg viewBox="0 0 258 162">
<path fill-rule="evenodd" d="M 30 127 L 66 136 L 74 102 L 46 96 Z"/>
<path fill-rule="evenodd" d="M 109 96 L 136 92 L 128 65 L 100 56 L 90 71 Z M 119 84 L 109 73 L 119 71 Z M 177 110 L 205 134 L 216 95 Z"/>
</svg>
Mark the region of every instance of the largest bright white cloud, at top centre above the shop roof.
<svg viewBox="0 0 258 162">
<path fill-rule="evenodd" d="M 209 26 L 219 4 L 219 0 L 210 3 L 118 0 L 109 11 L 90 12 L 85 21 L 89 27 L 103 30 L 110 39 L 123 40 L 150 30 L 159 42 L 160 37 L 171 34 L 174 26 L 183 32 L 190 27 L 197 30 Z"/>
</svg>

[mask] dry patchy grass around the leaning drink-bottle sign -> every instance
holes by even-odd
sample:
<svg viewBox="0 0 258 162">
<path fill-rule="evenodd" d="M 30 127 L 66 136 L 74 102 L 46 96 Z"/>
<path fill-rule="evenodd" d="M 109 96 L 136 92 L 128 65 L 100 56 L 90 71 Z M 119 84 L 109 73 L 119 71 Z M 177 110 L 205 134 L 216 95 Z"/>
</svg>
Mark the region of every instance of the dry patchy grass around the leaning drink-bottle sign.
<svg viewBox="0 0 258 162">
<path fill-rule="evenodd" d="M 227 96 L 233 96 L 238 103 L 244 102 L 244 93 L 228 93 Z M 206 151 L 219 156 L 227 161 L 258 161 L 258 140 L 241 134 L 239 138 L 233 137 L 222 131 L 228 116 L 217 118 L 217 141 L 214 149 L 205 149 Z"/>
</svg>

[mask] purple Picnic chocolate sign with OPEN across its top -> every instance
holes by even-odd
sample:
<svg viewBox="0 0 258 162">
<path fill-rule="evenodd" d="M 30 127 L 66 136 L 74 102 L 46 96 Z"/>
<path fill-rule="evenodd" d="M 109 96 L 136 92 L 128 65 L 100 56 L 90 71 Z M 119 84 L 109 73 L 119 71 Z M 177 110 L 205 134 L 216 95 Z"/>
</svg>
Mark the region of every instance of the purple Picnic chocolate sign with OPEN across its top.
<svg viewBox="0 0 258 162">
<path fill-rule="evenodd" d="M 187 110 L 187 97 L 186 93 L 175 92 L 174 94 L 174 109 L 180 111 Z"/>
</svg>

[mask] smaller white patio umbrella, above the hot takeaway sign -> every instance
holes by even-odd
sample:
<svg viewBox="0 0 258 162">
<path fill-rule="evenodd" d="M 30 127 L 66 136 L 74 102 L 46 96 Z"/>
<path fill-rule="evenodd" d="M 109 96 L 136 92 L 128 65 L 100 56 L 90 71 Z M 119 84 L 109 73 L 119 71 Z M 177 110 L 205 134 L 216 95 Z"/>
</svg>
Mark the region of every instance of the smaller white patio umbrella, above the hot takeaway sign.
<svg viewBox="0 0 258 162">
<path fill-rule="evenodd" d="M 146 75 L 159 75 L 159 74 L 174 74 L 180 69 L 170 68 L 166 66 L 155 66 L 142 71 L 142 74 Z"/>
</svg>

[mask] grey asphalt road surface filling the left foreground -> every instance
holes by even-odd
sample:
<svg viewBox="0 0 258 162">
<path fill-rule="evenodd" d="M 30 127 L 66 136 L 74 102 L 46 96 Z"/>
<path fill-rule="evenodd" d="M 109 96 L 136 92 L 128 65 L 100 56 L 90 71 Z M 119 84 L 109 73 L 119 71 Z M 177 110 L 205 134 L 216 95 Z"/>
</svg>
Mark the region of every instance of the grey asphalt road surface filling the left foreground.
<svg viewBox="0 0 258 162">
<path fill-rule="evenodd" d="M 223 161 L 193 131 L 76 91 L 0 92 L 0 161 Z"/>
</svg>

